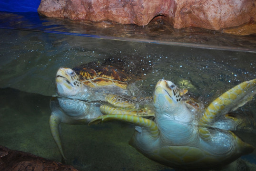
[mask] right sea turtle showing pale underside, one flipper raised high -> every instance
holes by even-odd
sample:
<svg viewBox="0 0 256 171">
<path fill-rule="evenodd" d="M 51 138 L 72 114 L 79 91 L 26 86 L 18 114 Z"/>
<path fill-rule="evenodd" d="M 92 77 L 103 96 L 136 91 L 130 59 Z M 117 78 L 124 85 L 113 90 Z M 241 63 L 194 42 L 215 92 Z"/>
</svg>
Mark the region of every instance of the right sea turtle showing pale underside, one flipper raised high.
<svg viewBox="0 0 256 171">
<path fill-rule="evenodd" d="M 200 110 L 193 111 L 185 104 L 176 85 L 162 79 L 153 96 L 155 120 L 107 114 L 89 124 L 111 120 L 135 124 L 129 143 L 149 159 L 174 168 L 214 168 L 253 152 L 253 146 L 230 131 L 239 123 L 227 113 L 246 104 L 255 94 L 256 79 L 243 82 L 219 96 L 200 114 Z M 222 117 L 226 117 L 226 124 L 233 125 L 215 124 L 224 123 L 219 119 Z"/>
</svg>

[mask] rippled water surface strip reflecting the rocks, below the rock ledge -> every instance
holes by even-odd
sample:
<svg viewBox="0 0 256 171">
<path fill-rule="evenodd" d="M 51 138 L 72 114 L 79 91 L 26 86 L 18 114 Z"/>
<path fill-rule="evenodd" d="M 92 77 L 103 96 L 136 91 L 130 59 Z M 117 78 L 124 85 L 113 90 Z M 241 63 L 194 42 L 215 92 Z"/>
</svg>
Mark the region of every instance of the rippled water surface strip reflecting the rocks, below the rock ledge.
<svg viewBox="0 0 256 171">
<path fill-rule="evenodd" d="M 109 21 L 90 22 L 83 20 L 54 19 L 39 16 L 35 12 L 8 13 L 0 12 L 1 28 L 33 29 L 44 32 L 74 34 L 103 38 L 117 38 L 162 44 L 177 44 L 189 47 L 205 47 L 256 52 L 256 24 L 249 23 L 241 28 L 207 30 L 204 28 L 172 28 L 161 18 L 153 19 L 147 26 L 118 24 Z M 234 32 L 249 29 L 247 36 L 232 35 Z M 231 34 L 226 34 L 231 33 Z M 243 33 L 246 35 L 245 33 Z"/>
</svg>

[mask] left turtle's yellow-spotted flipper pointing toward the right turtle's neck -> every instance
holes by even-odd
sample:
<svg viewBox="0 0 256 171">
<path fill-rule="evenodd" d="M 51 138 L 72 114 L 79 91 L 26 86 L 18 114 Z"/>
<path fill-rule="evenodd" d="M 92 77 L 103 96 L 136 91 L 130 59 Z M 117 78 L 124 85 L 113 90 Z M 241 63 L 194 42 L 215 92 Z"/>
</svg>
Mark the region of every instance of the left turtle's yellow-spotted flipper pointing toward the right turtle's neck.
<svg viewBox="0 0 256 171">
<path fill-rule="evenodd" d="M 109 104 L 102 104 L 100 111 L 103 114 L 131 114 L 139 116 L 155 116 L 152 97 L 137 99 L 124 95 L 107 95 Z"/>
</svg>

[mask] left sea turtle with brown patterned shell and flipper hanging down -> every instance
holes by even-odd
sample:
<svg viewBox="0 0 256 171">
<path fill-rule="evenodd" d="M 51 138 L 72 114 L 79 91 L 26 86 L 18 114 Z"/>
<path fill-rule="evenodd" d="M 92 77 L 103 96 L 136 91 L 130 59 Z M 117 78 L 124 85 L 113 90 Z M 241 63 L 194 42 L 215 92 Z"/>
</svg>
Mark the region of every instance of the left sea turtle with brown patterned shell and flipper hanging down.
<svg viewBox="0 0 256 171">
<path fill-rule="evenodd" d="M 50 102 L 52 112 L 49 125 L 64 161 L 66 157 L 60 141 L 60 123 L 87 124 L 102 115 L 102 104 L 116 106 L 116 111 L 122 114 L 154 115 L 146 105 L 152 98 L 128 98 L 130 80 L 131 76 L 109 65 L 95 69 L 85 68 L 85 65 L 73 69 L 59 68 L 56 74 L 58 95 Z"/>
</svg>

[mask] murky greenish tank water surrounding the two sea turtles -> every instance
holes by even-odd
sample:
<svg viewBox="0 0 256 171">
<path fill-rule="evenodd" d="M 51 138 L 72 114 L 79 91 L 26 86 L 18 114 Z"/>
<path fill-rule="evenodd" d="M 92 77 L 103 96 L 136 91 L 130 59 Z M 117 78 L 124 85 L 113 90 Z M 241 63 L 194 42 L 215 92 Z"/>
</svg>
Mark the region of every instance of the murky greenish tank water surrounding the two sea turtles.
<svg viewBox="0 0 256 171">
<path fill-rule="evenodd" d="M 97 23 L 87 24 L 86 32 L 82 24 L 65 19 L 0 14 L 0 145 L 49 160 L 63 161 L 49 127 L 50 100 L 59 96 L 55 79 L 60 67 L 121 68 L 132 80 L 131 94 L 138 98 L 153 96 L 158 81 L 169 80 L 205 107 L 232 87 L 256 78 L 255 35 L 226 40 L 228 35 L 216 33 L 209 38 L 211 31 L 200 30 L 204 32 L 200 35 L 194 28 L 178 33 L 159 27 L 161 22 L 147 28 L 150 34 L 131 25 L 122 33 L 117 28 L 110 32 L 99 29 Z M 173 37 L 165 36 L 168 31 Z M 193 40 L 188 40 L 188 32 Z M 246 123 L 233 132 L 254 147 L 255 106 L 252 97 L 231 114 Z M 66 162 L 80 171 L 177 171 L 129 145 L 134 132 L 133 124 L 119 121 L 89 126 L 61 123 Z M 256 170 L 256 151 L 221 170 Z"/>
</svg>

